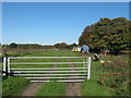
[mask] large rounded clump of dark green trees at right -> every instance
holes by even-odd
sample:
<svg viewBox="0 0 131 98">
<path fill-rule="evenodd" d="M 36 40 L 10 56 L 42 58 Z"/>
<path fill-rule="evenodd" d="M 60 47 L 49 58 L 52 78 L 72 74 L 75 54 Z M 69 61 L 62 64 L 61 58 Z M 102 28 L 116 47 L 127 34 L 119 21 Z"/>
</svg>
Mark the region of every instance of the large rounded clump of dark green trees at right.
<svg viewBox="0 0 131 98">
<path fill-rule="evenodd" d="M 100 19 L 97 23 L 86 26 L 79 38 L 79 45 L 90 46 L 92 51 L 109 51 L 119 54 L 130 49 L 131 21 L 126 17 Z"/>
</svg>

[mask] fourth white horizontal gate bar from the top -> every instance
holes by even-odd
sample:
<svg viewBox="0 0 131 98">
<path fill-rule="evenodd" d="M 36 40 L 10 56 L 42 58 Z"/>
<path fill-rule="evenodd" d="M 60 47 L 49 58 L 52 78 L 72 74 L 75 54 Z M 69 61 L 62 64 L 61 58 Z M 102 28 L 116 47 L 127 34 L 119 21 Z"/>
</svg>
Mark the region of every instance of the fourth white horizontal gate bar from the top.
<svg viewBox="0 0 131 98">
<path fill-rule="evenodd" d="M 13 71 L 13 73 L 62 73 L 62 72 L 87 72 L 87 71 Z"/>
</svg>

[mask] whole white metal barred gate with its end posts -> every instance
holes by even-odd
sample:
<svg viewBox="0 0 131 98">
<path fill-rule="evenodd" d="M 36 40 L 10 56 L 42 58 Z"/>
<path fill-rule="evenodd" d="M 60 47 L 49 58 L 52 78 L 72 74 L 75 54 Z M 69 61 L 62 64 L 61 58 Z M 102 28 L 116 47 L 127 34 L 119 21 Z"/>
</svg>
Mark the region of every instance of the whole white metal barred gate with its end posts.
<svg viewBox="0 0 131 98">
<path fill-rule="evenodd" d="M 83 62 L 29 62 L 29 60 L 35 61 L 35 59 L 86 59 Z M 12 62 L 13 60 L 21 60 L 21 62 Z M 23 62 L 26 60 L 26 62 Z M 27 61 L 28 60 L 28 61 Z M 86 66 L 81 68 L 13 68 L 13 65 L 50 65 L 50 64 L 86 64 Z M 61 70 L 71 70 L 76 69 L 81 71 L 61 71 Z M 90 79 L 91 77 L 91 57 L 8 57 L 3 58 L 3 75 L 5 76 L 24 76 L 25 78 L 31 79 L 31 82 L 51 82 L 50 78 L 58 79 L 57 82 L 84 82 L 84 79 Z M 50 77 L 55 76 L 56 74 L 60 76 L 71 76 L 72 77 Z M 67 74 L 69 72 L 74 72 L 73 74 Z M 84 74 L 76 74 L 78 72 L 83 72 Z M 49 75 L 49 76 L 48 76 Z M 73 76 L 79 77 L 73 77 Z M 29 77 L 27 77 L 29 76 Z M 43 76 L 43 77 L 39 77 Z M 48 77 L 45 77 L 48 76 Z M 62 79 L 60 79 L 62 78 Z M 66 79 L 64 79 L 66 78 Z M 46 79 L 46 81 L 45 81 Z"/>
</svg>

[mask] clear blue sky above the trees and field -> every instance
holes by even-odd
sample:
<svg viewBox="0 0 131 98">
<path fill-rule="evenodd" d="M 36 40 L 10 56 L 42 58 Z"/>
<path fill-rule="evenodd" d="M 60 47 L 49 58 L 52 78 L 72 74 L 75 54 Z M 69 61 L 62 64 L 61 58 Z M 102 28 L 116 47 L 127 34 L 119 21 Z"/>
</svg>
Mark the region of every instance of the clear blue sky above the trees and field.
<svg viewBox="0 0 131 98">
<path fill-rule="evenodd" d="M 128 2 L 4 2 L 2 44 L 79 42 L 100 17 L 129 19 Z"/>
</svg>

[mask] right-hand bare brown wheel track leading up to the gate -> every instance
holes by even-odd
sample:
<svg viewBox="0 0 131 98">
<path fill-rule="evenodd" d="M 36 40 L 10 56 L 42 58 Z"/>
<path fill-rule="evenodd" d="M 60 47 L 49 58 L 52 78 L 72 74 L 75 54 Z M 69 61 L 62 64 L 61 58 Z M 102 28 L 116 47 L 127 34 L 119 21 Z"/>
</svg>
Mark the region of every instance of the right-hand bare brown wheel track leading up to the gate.
<svg viewBox="0 0 131 98">
<path fill-rule="evenodd" d="M 69 64 L 69 66 L 74 68 L 73 64 Z M 71 71 L 75 71 L 75 70 L 71 70 Z M 73 72 L 71 72 L 71 74 L 73 74 Z M 67 83 L 66 96 L 81 96 L 81 84 L 82 83 Z"/>
</svg>

